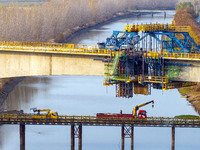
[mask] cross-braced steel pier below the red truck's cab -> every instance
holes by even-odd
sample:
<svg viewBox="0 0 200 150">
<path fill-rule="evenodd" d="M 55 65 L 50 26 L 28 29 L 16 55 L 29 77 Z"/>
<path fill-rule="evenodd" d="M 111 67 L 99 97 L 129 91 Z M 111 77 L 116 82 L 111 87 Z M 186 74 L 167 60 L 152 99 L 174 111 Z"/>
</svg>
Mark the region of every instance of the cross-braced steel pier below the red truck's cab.
<svg viewBox="0 0 200 150">
<path fill-rule="evenodd" d="M 131 150 L 134 150 L 134 125 L 125 126 L 122 125 L 122 133 L 121 133 L 121 149 L 125 148 L 125 138 L 131 138 Z"/>
</svg>

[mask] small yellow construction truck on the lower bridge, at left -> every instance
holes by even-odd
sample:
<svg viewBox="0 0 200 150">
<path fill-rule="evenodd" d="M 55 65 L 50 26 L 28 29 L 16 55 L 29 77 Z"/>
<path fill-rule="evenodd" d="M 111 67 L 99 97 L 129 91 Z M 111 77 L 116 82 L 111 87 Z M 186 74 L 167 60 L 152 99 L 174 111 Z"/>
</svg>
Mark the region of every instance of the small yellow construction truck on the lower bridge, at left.
<svg viewBox="0 0 200 150">
<path fill-rule="evenodd" d="M 32 115 L 32 118 L 37 119 L 58 119 L 58 113 L 56 111 L 51 111 L 50 109 L 32 109 L 34 114 Z M 37 113 L 35 113 L 37 112 Z"/>
</svg>

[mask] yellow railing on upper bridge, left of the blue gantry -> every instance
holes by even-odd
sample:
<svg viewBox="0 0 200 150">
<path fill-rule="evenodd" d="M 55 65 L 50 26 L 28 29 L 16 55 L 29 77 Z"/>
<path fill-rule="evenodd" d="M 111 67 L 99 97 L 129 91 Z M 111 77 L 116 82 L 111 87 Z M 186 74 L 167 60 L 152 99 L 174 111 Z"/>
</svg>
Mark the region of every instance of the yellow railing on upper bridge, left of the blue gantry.
<svg viewBox="0 0 200 150">
<path fill-rule="evenodd" d="M 83 44 L 0 41 L 0 50 L 111 56 L 111 50 Z"/>
</svg>

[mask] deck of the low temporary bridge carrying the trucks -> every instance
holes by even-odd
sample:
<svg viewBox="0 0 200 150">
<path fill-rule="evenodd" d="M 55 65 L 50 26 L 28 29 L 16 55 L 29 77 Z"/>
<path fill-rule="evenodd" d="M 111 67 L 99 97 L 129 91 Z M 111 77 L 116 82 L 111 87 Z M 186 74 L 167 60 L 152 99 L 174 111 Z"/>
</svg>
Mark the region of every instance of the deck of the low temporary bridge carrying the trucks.
<svg viewBox="0 0 200 150">
<path fill-rule="evenodd" d="M 0 114 L 0 124 L 24 125 L 72 125 L 85 126 L 121 126 L 134 125 L 139 127 L 185 127 L 200 128 L 200 119 L 176 119 L 164 117 L 135 118 L 97 118 L 96 116 L 59 116 L 53 118 L 33 118 L 32 115 Z"/>
</svg>

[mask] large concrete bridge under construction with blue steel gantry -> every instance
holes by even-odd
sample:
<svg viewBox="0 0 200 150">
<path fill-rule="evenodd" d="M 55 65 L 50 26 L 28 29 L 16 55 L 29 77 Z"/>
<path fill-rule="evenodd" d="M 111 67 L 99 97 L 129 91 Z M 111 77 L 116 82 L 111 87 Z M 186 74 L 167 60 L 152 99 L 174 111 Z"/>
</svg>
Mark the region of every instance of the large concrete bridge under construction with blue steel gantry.
<svg viewBox="0 0 200 150">
<path fill-rule="evenodd" d="M 130 98 L 133 93 L 148 95 L 152 87 L 168 90 L 196 85 L 200 82 L 199 51 L 199 39 L 189 26 L 175 23 L 126 25 L 124 31 L 113 31 L 98 45 L 1 41 L 3 67 L 0 69 L 2 77 L 95 75 L 95 72 L 103 75 L 104 63 L 104 85 L 116 85 L 117 97 Z M 9 55 L 5 57 L 5 53 Z M 10 53 L 15 55 L 10 56 Z M 65 59 L 65 56 L 78 57 Z M 37 66 L 35 62 L 44 64 Z M 98 66 L 92 71 L 95 65 Z"/>
</svg>

